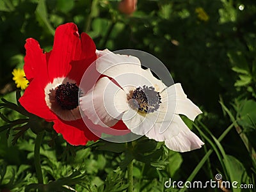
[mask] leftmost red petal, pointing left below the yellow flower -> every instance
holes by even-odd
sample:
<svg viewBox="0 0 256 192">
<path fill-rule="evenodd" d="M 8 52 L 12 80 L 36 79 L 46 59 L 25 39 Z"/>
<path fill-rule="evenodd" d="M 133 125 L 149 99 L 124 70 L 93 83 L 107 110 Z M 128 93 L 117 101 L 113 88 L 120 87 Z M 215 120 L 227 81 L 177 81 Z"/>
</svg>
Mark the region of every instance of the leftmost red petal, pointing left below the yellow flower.
<svg viewBox="0 0 256 192">
<path fill-rule="evenodd" d="M 46 105 L 44 85 L 42 85 L 42 82 L 37 77 L 29 83 L 19 102 L 29 113 L 40 116 L 49 122 L 57 118 Z"/>
</svg>

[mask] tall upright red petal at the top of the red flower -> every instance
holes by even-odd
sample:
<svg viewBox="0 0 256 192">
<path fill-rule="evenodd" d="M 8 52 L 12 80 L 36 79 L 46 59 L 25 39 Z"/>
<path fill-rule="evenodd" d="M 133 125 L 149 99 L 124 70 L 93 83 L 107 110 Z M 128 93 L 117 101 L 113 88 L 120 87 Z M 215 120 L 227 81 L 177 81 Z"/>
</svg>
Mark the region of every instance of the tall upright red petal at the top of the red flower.
<svg viewBox="0 0 256 192">
<path fill-rule="evenodd" d="M 66 77 L 70 72 L 69 63 L 74 60 L 77 44 L 80 44 L 80 39 L 76 24 L 67 23 L 56 29 L 48 65 L 51 82 L 56 77 Z"/>
</svg>

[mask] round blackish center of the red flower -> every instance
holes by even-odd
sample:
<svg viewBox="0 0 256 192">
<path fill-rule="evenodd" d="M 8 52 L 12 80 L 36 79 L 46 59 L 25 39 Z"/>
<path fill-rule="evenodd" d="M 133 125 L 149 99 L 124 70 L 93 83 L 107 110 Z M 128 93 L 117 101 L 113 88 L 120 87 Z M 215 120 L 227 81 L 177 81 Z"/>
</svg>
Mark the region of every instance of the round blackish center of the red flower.
<svg viewBox="0 0 256 192">
<path fill-rule="evenodd" d="M 78 106 L 79 88 L 76 83 L 60 84 L 55 92 L 55 99 L 62 109 L 75 109 Z"/>
</svg>

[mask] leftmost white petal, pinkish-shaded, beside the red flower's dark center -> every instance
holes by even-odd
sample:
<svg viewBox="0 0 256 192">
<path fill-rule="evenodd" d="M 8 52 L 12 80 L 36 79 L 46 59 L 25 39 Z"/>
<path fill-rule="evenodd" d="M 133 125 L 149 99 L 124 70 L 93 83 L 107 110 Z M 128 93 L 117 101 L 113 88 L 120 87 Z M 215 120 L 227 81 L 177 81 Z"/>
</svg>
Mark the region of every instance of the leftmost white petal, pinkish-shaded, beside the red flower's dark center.
<svg viewBox="0 0 256 192">
<path fill-rule="evenodd" d="M 80 107 L 84 115 L 93 124 L 113 126 L 118 118 L 127 110 L 126 93 L 110 81 L 102 77 L 88 93 L 80 99 Z"/>
</svg>

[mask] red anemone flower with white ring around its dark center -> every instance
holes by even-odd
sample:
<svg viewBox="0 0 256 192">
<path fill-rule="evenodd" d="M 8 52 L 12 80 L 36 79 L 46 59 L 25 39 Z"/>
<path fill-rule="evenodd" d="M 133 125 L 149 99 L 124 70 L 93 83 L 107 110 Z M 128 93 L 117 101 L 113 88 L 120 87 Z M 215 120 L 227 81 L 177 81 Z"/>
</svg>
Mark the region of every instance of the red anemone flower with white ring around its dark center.
<svg viewBox="0 0 256 192">
<path fill-rule="evenodd" d="M 76 24 L 59 26 L 52 51 L 43 52 L 38 42 L 28 38 L 25 44 L 24 71 L 29 86 L 20 104 L 47 122 L 72 145 L 98 140 L 83 122 L 78 106 L 79 84 L 83 74 L 96 60 L 95 44 Z"/>
</svg>

